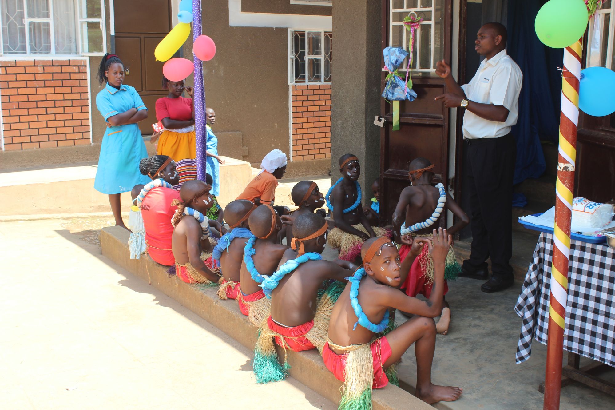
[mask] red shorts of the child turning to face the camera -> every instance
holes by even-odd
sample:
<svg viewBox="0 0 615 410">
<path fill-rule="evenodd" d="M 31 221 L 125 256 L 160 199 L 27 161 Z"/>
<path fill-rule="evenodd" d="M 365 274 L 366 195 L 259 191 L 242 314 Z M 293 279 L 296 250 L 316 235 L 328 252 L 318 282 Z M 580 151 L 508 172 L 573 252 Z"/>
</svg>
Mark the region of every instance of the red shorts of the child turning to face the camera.
<svg viewBox="0 0 615 410">
<path fill-rule="evenodd" d="M 384 374 L 383 364 L 391 357 L 393 353 L 391 346 L 386 336 L 371 342 L 371 358 L 374 363 L 374 382 L 371 388 L 383 388 L 389 382 L 389 378 Z M 325 361 L 325 366 L 331 372 L 336 379 L 344 381 L 344 369 L 346 369 L 346 355 L 338 355 L 333 352 L 328 343 L 325 343 L 325 347 L 322 349 L 322 358 Z"/>
</svg>

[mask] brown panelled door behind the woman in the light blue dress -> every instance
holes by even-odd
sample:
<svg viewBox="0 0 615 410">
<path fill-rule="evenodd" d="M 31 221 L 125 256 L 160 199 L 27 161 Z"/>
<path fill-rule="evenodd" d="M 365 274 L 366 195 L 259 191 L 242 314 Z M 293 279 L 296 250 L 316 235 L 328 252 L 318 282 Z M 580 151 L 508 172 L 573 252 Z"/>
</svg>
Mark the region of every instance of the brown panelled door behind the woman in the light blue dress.
<svg viewBox="0 0 615 410">
<path fill-rule="evenodd" d="M 115 50 L 126 65 L 124 84 L 135 87 L 148 119 L 139 123 L 143 135 L 151 135 L 156 123 L 156 100 L 169 94 L 162 88 L 162 65 L 154 49 L 172 28 L 170 0 L 115 2 Z"/>
</svg>

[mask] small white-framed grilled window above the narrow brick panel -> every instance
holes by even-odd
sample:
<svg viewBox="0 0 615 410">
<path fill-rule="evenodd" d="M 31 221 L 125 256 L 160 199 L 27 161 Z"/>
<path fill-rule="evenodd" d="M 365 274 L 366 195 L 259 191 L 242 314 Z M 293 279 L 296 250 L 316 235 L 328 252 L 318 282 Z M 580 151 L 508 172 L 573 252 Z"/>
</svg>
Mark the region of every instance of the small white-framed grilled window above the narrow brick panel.
<svg viewBox="0 0 615 410">
<path fill-rule="evenodd" d="M 333 35 L 328 31 L 288 31 L 291 84 L 331 82 Z"/>
</svg>

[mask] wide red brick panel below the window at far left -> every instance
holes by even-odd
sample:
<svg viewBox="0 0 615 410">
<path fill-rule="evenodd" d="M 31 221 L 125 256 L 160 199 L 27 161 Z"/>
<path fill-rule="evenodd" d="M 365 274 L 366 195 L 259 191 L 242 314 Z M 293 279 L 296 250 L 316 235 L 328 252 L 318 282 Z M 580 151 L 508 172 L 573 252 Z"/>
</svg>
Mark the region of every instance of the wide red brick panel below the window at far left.
<svg viewBox="0 0 615 410">
<path fill-rule="evenodd" d="M 86 60 L 0 61 L 5 150 L 90 143 Z"/>
</svg>

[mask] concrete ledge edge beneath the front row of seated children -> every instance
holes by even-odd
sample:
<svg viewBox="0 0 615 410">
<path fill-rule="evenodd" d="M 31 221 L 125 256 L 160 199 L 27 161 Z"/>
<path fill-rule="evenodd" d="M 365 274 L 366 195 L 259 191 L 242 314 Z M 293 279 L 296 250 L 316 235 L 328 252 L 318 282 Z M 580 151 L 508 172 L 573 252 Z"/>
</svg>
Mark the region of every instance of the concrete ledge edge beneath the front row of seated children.
<svg viewBox="0 0 615 410">
<path fill-rule="evenodd" d="M 100 233 L 103 255 L 133 275 L 148 281 L 246 348 L 254 348 L 256 328 L 239 312 L 235 300 L 220 300 L 214 289 L 200 291 L 177 277 L 169 278 L 165 273 L 166 268 L 154 262 L 148 255 L 141 255 L 141 259 L 130 259 L 129 235 L 124 228 L 103 228 Z M 278 354 L 284 355 L 281 348 Z M 325 368 L 322 358 L 315 350 L 301 353 L 288 351 L 288 363 L 292 366 L 292 377 L 333 403 L 338 403 L 342 384 Z M 372 400 L 375 410 L 432 408 L 402 388 L 390 384 L 385 388 L 373 390 Z"/>
</svg>

